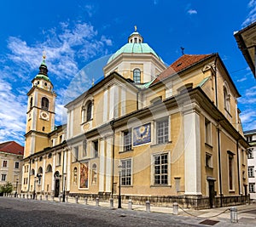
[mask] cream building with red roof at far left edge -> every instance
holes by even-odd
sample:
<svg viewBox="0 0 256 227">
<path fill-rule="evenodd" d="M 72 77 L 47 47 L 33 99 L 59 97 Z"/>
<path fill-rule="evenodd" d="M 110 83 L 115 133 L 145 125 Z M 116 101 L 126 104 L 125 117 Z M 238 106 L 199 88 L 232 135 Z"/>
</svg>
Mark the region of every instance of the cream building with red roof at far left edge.
<svg viewBox="0 0 256 227">
<path fill-rule="evenodd" d="M 24 147 L 15 141 L 0 144 L 0 185 L 13 184 L 15 192 L 21 191 Z"/>
</svg>

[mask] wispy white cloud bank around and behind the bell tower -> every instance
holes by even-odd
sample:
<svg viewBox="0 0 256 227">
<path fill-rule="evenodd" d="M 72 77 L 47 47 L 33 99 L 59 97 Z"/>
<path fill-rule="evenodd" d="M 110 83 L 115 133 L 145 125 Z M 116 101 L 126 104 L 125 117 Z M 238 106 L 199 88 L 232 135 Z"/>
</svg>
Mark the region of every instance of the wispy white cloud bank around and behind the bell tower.
<svg viewBox="0 0 256 227">
<path fill-rule="evenodd" d="M 11 138 L 23 144 L 26 92 L 36 75 L 35 71 L 38 72 L 43 50 L 47 55 L 49 77 L 57 81 L 55 87 L 59 87 L 58 92 L 63 94 L 65 86 L 81 67 L 78 62 L 106 54 L 106 46 L 112 45 L 108 37 L 98 36 L 93 26 L 82 21 L 62 22 L 60 26 L 43 33 L 44 41 L 36 43 L 27 43 L 21 37 L 9 37 L 9 53 L 1 54 L 1 62 L 4 64 L 0 66 L 0 103 L 4 108 L 0 108 L 0 141 Z M 59 123 L 63 122 L 61 99 L 59 94 L 55 110 L 55 119 Z"/>
</svg>

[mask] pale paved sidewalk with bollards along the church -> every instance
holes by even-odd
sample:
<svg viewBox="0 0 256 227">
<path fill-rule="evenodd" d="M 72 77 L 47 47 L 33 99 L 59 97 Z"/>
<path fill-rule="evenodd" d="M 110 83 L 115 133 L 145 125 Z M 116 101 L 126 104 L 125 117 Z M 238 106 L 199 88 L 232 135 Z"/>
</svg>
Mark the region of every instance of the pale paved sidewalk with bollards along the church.
<svg viewBox="0 0 256 227">
<path fill-rule="evenodd" d="M 13 198 L 17 199 L 17 198 Z M 32 201 L 27 199 L 21 199 L 25 201 Z M 164 217 L 176 218 L 180 219 L 181 222 L 195 224 L 201 224 L 202 226 L 256 226 L 256 203 L 252 203 L 250 205 L 241 205 L 236 206 L 237 208 L 237 218 L 238 223 L 231 223 L 230 222 L 230 207 L 219 207 L 213 209 L 205 209 L 205 210 L 194 210 L 194 209 L 187 209 L 187 208 L 178 208 L 178 214 L 174 215 L 172 207 L 150 207 L 150 213 L 146 212 L 146 206 L 142 205 L 132 205 L 132 210 L 128 209 L 127 203 L 122 203 L 122 209 L 117 209 L 118 201 L 113 202 L 113 207 L 110 207 L 110 202 L 106 201 L 99 201 L 99 206 L 96 206 L 96 201 L 87 200 L 87 205 L 85 205 L 84 199 L 79 200 L 79 203 L 76 203 L 75 198 L 70 197 L 68 201 L 62 202 L 59 201 L 58 198 L 55 198 L 52 201 L 49 198 L 48 201 L 45 201 L 43 197 L 42 201 L 34 201 L 34 202 L 54 202 L 57 205 L 67 206 L 67 207 L 80 207 L 80 208 L 88 208 L 88 209 L 105 209 L 106 212 L 114 210 L 116 213 L 125 213 L 125 215 L 130 215 L 134 217 L 145 217 L 145 218 L 163 218 L 162 214 L 166 214 Z M 167 215 L 170 214 L 170 215 Z M 214 222 L 215 221 L 215 222 Z"/>
</svg>

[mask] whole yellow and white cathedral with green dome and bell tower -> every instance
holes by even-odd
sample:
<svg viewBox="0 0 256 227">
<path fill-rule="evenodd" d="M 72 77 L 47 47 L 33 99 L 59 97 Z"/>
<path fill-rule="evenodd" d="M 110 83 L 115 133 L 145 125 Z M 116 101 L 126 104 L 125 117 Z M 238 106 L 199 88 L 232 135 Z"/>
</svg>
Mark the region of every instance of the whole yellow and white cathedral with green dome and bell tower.
<svg viewBox="0 0 256 227">
<path fill-rule="evenodd" d="M 55 127 L 43 58 L 27 93 L 22 193 L 108 201 L 120 190 L 123 202 L 196 209 L 249 200 L 240 94 L 218 54 L 167 66 L 136 30 L 103 71 Z"/>
</svg>

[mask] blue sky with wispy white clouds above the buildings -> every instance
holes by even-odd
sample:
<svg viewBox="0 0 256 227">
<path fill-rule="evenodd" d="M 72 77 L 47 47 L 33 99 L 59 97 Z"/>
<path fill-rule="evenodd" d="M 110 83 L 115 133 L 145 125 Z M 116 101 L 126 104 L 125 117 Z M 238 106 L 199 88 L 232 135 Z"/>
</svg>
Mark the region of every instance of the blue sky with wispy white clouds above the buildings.
<svg viewBox="0 0 256 227">
<path fill-rule="evenodd" d="M 61 124 L 69 88 L 84 73 L 80 92 L 101 77 L 96 66 L 127 42 L 134 26 L 168 65 L 181 56 L 180 47 L 185 54 L 218 52 L 242 96 L 243 128 L 256 128 L 256 83 L 233 36 L 256 20 L 256 0 L 9 0 L 1 9 L 0 142 L 24 144 L 26 93 L 44 50 Z"/>
</svg>

